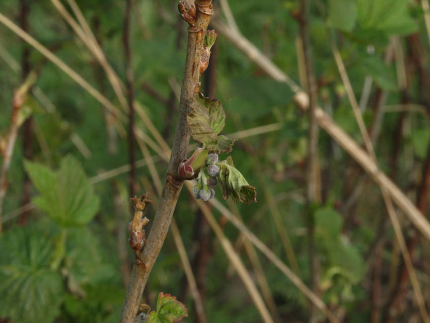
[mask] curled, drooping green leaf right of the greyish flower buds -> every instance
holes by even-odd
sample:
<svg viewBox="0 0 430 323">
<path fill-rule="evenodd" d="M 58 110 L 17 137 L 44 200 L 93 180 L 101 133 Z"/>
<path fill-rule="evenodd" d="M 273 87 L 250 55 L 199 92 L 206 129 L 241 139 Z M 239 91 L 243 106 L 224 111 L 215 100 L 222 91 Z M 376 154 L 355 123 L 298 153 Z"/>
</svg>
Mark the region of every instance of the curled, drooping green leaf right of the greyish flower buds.
<svg viewBox="0 0 430 323">
<path fill-rule="evenodd" d="M 233 165 L 233 160 L 227 159 L 217 163 L 219 167 L 218 182 L 222 189 L 223 199 L 229 196 L 234 202 L 243 202 L 247 205 L 257 202 L 255 187 L 248 184 L 246 179 Z"/>
</svg>

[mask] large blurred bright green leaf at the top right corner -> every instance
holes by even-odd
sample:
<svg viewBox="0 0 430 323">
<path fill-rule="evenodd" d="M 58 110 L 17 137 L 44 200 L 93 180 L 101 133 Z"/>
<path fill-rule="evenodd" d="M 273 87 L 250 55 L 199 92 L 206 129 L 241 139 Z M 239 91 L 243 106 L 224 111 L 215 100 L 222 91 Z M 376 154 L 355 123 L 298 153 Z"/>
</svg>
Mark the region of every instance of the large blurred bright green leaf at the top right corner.
<svg viewBox="0 0 430 323">
<path fill-rule="evenodd" d="M 408 13 L 408 0 L 358 0 L 358 22 L 363 29 L 407 35 L 418 29 Z"/>
</svg>

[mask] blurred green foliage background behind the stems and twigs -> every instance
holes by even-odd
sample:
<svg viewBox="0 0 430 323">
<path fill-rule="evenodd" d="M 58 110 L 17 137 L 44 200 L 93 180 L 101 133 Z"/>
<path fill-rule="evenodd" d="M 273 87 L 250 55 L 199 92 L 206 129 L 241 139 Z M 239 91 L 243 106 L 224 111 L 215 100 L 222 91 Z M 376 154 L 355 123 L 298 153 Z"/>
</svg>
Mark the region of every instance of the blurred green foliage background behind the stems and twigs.
<svg viewBox="0 0 430 323">
<path fill-rule="evenodd" d="M 108 62 L 123 81 L 125 2 L 76 0 Z M 3 0 L 0 12 L 19 23 L 23 3 L 28 8 L 29 34 L 119 106 L 98 62 L 49 0 Z M 243 35 L 300 82 L 298 24 L 291 14 L 299 9 L 300 1 L 248 0 L 229 4 Z M 170 0 L 134 0 L 130 33 L 135 99 L 169 145 L 176 124 L 187 36 L 187 25 L 179 18 L 176 5 Z M 222 19 L 218 1 L 214 0 L 214 6 Z M 309 33 L 320 105 L 361 143 L 330 49 L 331 35 L 358 98 L 363 95 L 363 83 L 371 82 L 363 117 L 368 127 L 380 123 L 374 143 L 380 167 L 415 202 L 430 140 L 426 87 L 430 75 L 429 35 L 421 1 L 311 1 Z M 391 54 L 387 59 L 394 41 L 403 57 Z M 37 87 L 46 95 L 42 101 L 29 95 L 26 105 L 32 108 L 31 126 L 25 123 L 21 127 L 7 173 L 10 185 L 3 203 L 0 238 L 0 321 L 118 322 L 124 283 L 134 261 L 127 245 L 127 223 L 132 219 L 129 177 L 126 171 L 108 179 L 98 175 L 129 163 L 127 138 L 118 135 L 113 126 L 116 135 L 109 139 L 112 124 L 103 106 L 4 25 L 0 25 L 0 44 L 2 133 L 7 133 L 10 124 L 13 92 L 23 81 L 20 70 L 24 61 L 30 70 L 39 73 Z M 26 48 L 27 59 L 22 58 Z M 399 87 L 402 66 L 407 72 L 406 88 Z M 231 154 L 236 167 L 258 192 L 258 203 L 237 205 L 246 226 L 291 266 L 281 239 L 286 237 L 280 237 L 273 217 L 279 212 L 299 275 L 309 286 L 315 274 L 309 265 L 306 214 L 310 207 L 319 263 L 317 294 L 330 309 L 344 322 L 380 322 L 371 321 L 375 311 L 372 286 L 377 281 L 382 289 L 383 302 L 378 307 L 381 322 L 420 322 L 411 293 L 403 298 L 409 306 L 399 311 L 394 321 L 386 321 L 382 310 L 390 304 L 390 296 L 399 284 L 402 261 L 378 188 L 320 131 L 322 199 L 308 206 L 308 119 L 293 103 L 293 92 L 267 76 L 222 34 L 205 73 L 202 88 L 214 93 L 227 113 L 224 134 L 281 125 L 277 130 L 239 139 Z M 208 73 L 215 75 L 215 81 L 206 76 Z M 381 95 L 384 99 L 379 103 Z M 376 119 L 379 104 L 383 113 Z M 396 142 L 400 118 L 403 124 L 400 141 Z M 136 127 L 148 133 L 138 115 Z M 109 150 L 110 145 L 116 147 L 115 151 Z M 143 159 L 139 149 L 136 154 L 138 160 Z M 150 149 L 150 154 L 156 156 L 157 152 Z M 160 158 L 155 161 L 160 178 L 164 178 L 167 163 Z M 353 192 L 359 182 L 364 188 L 355 197 Z M 146 167 L 138 167 L 136 186 L 139 194 L 156 191 Z M 30 195 L 35 207 L 19 212 Z M 216 197 L 220 196 L 217 190 Z M 227 206 L 232 208 L 230 203 Z M 154 212 L 151 206 L 146 216 L 152 220 Z M 213 213 L 255 276 L 240 233 L 218 211 L 214 209 Z M 174 217 L 204 300 L 207 321 L 261 322 L 246 289 L 186 190 L 181 193 Z M 417 233 L 406 219 L 402 218 L 402 223 L 409 241 Z M 149 230 L 150 223 L 146 233 Z M 416 250 L 414 264 L 429 300 L 430 255 L 426 246 L 428 242 L 423 242 Z M 376 249 L 379 253 L 375 255 Z M 278 321 L 307 321 L 310 312 L 306 299 L 270 261 L 261 254 L 258 257 L 279 312 Z M 382 267 L 376 274 L 375 259 Z M 170 235 L 151 272 L 143 301 L 155 307 L 160 291 L 177 296 L 187 306 L 189 317 L 184 322 L 198 322 Z M 313 320 L 324 322 L 322 314 Z"/>
</svg>

